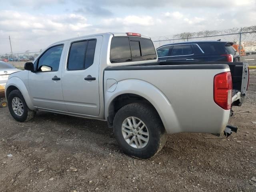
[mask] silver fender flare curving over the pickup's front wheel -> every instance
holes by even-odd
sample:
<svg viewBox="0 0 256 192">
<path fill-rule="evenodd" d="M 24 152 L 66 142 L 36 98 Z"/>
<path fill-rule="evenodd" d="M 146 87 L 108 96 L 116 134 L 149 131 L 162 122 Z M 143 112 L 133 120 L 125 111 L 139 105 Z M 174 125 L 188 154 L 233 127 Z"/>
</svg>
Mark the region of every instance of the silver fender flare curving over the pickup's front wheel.
<svg viewBox="0 0 256 192">
<path fill-rule="evenodd" d="M 6 87 L 5 87 L 5 94 L 7 94 L 7 90 L 8 90 L 8 88 L 10 88 L 10 86 L 15 86 L 16 88 L 18 88 L 18 90 L 20 90 L 20 92 L 21 92 L 22 96 L 24 97 L 26 104 L 30 110 L 36 110 L 36 108 L 34 108 L 32 100 L 30 98 L 28 89 L 26 88 L 24 82 L 20 78 L 14 76 L 14 77 L 11 77 L 10 79 L 8 79 L 8 81 L 6 83 Z M 7 95 L 5 95 L 5 96 L 7 99 Z"/>
</svg>

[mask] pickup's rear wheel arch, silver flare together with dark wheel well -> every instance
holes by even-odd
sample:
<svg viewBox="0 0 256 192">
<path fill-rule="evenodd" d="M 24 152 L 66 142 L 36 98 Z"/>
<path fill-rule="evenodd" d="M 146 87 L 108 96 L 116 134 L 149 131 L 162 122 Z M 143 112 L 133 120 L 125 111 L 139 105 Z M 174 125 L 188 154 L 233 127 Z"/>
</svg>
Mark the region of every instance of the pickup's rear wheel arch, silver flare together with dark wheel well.
<svg viewBox="0 0 256 192">
<path fill-rule="evenodd" d="M 132 102 L 150 104 L 160 116 L 168 134 L 182 132 L 172 105 L 164 93 L 148 82 L 132 79 L 118 82 L 114 92 L 105 93 L 105 119 L 110 127 L 116 112 Z"/>
</svg>

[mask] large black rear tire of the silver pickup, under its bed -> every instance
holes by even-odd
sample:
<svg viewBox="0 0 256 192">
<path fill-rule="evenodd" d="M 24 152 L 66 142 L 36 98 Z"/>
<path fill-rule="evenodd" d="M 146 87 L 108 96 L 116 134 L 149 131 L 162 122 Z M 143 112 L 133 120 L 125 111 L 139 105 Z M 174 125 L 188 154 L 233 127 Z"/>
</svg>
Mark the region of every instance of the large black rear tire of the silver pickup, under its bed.
<svg viewBox="0 0 256 192">
<path fill-rule="evenodd" d="M 137 125 L 140 124 L 140 122 L 141 124 L 144 124 L 145 126 L 143 128 L 143 133 L 140 134 L 140 131 L 134 131 L 134 129 L 130 129 L 130 126 L 127 128 L 127 125 L 129 125 L 128 119 L 130 119 L 132 124 L 134 124 L 134 120 L 135 124 L 137 123 Z M 124 124 L 126 127 L 124 127 Z M 166 142 L 166 130 L 164 125 L 162 124 L 162 121 L 156 110 L 149 104 L 132 103 L 122 107 L 120 110 L 118 110 L 114 117 L 113 128 L 114 136 L 120 148 L 124 151 L 124 153 L 135 158 L 148 159 L 153 157 L 163 148 Z M 128 139 L 125 139 L 129 136 L 129 134 L 131 134 L 130 130 L 132 131 L 132 136 Z M 126 133 L 126 131 L 129 133 Z M 146 134 L 148 134 L 148 137 Z M 144 140 L 139 139 L 139 135 L 140 138 L 142 136 L 146 137 L 144 140 L 148 140 L 147 144 L 144 142 Z M 129 144 L 133 137 L 136 136 L 137 144 L 140 147 L 137 147 L 135 142 L 136 139 L 132 141 L 131 144 Z M 140 142 L 138 142 L 139 140 Z M 144 143 L 141 144 L 142 142 Z"/>
</svg>

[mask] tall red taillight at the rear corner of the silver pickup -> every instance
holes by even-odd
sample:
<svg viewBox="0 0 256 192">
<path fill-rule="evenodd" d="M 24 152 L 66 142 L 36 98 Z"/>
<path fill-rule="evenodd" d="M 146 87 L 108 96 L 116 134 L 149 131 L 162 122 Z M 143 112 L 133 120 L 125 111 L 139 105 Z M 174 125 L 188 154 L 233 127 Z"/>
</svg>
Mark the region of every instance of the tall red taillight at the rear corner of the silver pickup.
<svg viewBox="0 0 256 192">
<path fill-rule="evenodd" d="M 230 72 L 214 76 L 214 102 L 225 110 L 231 108 L 232 78 Z"/>
</svg>

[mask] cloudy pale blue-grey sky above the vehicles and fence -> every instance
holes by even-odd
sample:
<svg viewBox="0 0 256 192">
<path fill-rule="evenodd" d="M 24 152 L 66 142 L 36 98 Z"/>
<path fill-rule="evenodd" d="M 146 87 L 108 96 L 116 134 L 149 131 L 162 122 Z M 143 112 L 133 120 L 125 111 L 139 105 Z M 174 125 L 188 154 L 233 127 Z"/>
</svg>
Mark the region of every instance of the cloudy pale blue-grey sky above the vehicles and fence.
<svg viewBox="0 0 256 192">
<path fill-rule="evenodd" d="M 102 32 L 167 36 L 256 24 L 256 0 L 0 0 L 0 54 Z"/>
</svg>

